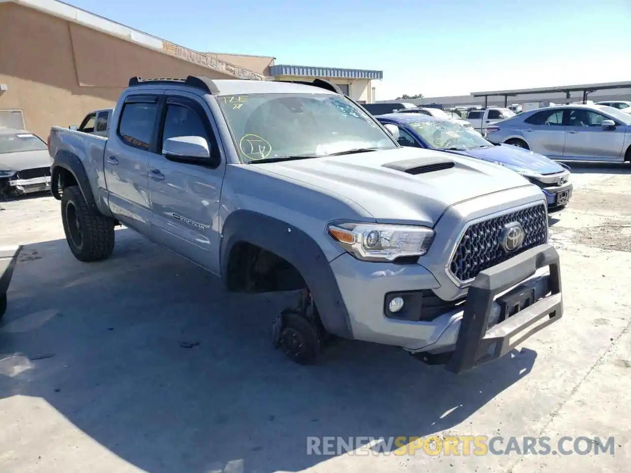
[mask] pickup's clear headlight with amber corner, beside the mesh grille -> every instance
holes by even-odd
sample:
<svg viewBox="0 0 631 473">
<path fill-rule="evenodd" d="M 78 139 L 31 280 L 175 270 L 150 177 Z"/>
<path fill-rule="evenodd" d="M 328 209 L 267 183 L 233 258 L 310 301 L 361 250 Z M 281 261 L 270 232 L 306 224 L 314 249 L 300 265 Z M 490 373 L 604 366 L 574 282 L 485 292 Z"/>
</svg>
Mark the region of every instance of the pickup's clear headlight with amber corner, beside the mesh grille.
<svg viewBox="0 0 631 473">
<path fill-rule="evenodd" d="M 365 261 L 422 256 L 432 245 L 431 228 L 379 223 L 329 223 L 327 233 L 347 252 Z"/>
</svg>

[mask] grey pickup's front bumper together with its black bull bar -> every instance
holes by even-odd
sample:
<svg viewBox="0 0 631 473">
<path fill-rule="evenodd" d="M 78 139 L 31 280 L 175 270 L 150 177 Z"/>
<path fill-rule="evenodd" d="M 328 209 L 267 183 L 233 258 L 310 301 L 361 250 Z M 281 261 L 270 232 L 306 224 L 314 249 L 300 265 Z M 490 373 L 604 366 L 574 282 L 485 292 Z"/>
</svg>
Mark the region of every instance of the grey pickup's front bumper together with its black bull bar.
<svg viewBox="0 0 631 473">
<path fill-rule="evenodd" d="M 439 289 L 440 284 L 425 267 L 366 263 L 351 255 L 341 255 L 331 266 L 353 338 L 401 346 L 420 356 L 446 354 L 447 370 L 455 373 L 499 358 L 562 316 L 558 254 L 547 244 L 480 272 L 464 302 L 430 318 L 423 317 L 429 307 L 418 293 Z M 418 317 L 389 317 L 387 297 L 405 291 L 410 302 L 418 304 L 413 307 Z M 533 295 L 531 305 L 501 321 L 502 304 L 520 293 Z"/>
</svg>

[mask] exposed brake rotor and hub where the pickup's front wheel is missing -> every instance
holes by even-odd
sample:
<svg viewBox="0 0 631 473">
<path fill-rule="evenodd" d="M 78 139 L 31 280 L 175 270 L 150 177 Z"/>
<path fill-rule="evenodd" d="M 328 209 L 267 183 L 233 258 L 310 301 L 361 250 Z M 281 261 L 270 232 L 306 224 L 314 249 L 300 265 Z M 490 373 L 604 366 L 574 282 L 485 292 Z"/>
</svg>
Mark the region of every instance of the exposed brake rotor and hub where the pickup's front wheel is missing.
<svg viewBox="0 0 631 473">
<path fill-rule="evenodd" d="M 285 323 L 280 334 L 280 348 L 287 358 L 298 365 L 313 365 L 322 352 L 315 325 L 293 313 L 285 315 Z"/>
</svg>

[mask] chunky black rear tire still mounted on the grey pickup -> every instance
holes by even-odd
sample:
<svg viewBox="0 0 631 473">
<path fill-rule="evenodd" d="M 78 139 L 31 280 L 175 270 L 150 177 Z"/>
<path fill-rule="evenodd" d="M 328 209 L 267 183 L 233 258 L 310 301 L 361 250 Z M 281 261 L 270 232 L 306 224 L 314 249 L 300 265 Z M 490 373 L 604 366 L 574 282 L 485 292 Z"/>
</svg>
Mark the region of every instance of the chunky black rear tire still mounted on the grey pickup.
<svg viewBox="0 0 631 473">
<path fill-rule="evenodd" d="M 98 261 L 114 251 L 114 219 L 91 212 L 76 185 L 64 187 L 61 220 L 66 242 L 76 259 Z"/>
</svg>

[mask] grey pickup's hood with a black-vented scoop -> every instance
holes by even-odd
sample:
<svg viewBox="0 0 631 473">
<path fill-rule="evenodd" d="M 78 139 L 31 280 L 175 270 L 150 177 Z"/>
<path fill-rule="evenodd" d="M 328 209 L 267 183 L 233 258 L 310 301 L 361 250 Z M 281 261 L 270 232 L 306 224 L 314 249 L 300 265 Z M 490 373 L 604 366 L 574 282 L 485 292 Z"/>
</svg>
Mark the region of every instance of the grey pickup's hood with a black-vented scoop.
<svg viewBox="0 0 631 473">
<path fill-rule="evenodd" d="M 430 226 L 447 207 L 458 202 L 530 185 L 502 166 L 422 148 L 249 166 L 343 196 L 377 222 Z"/>
</svg>

